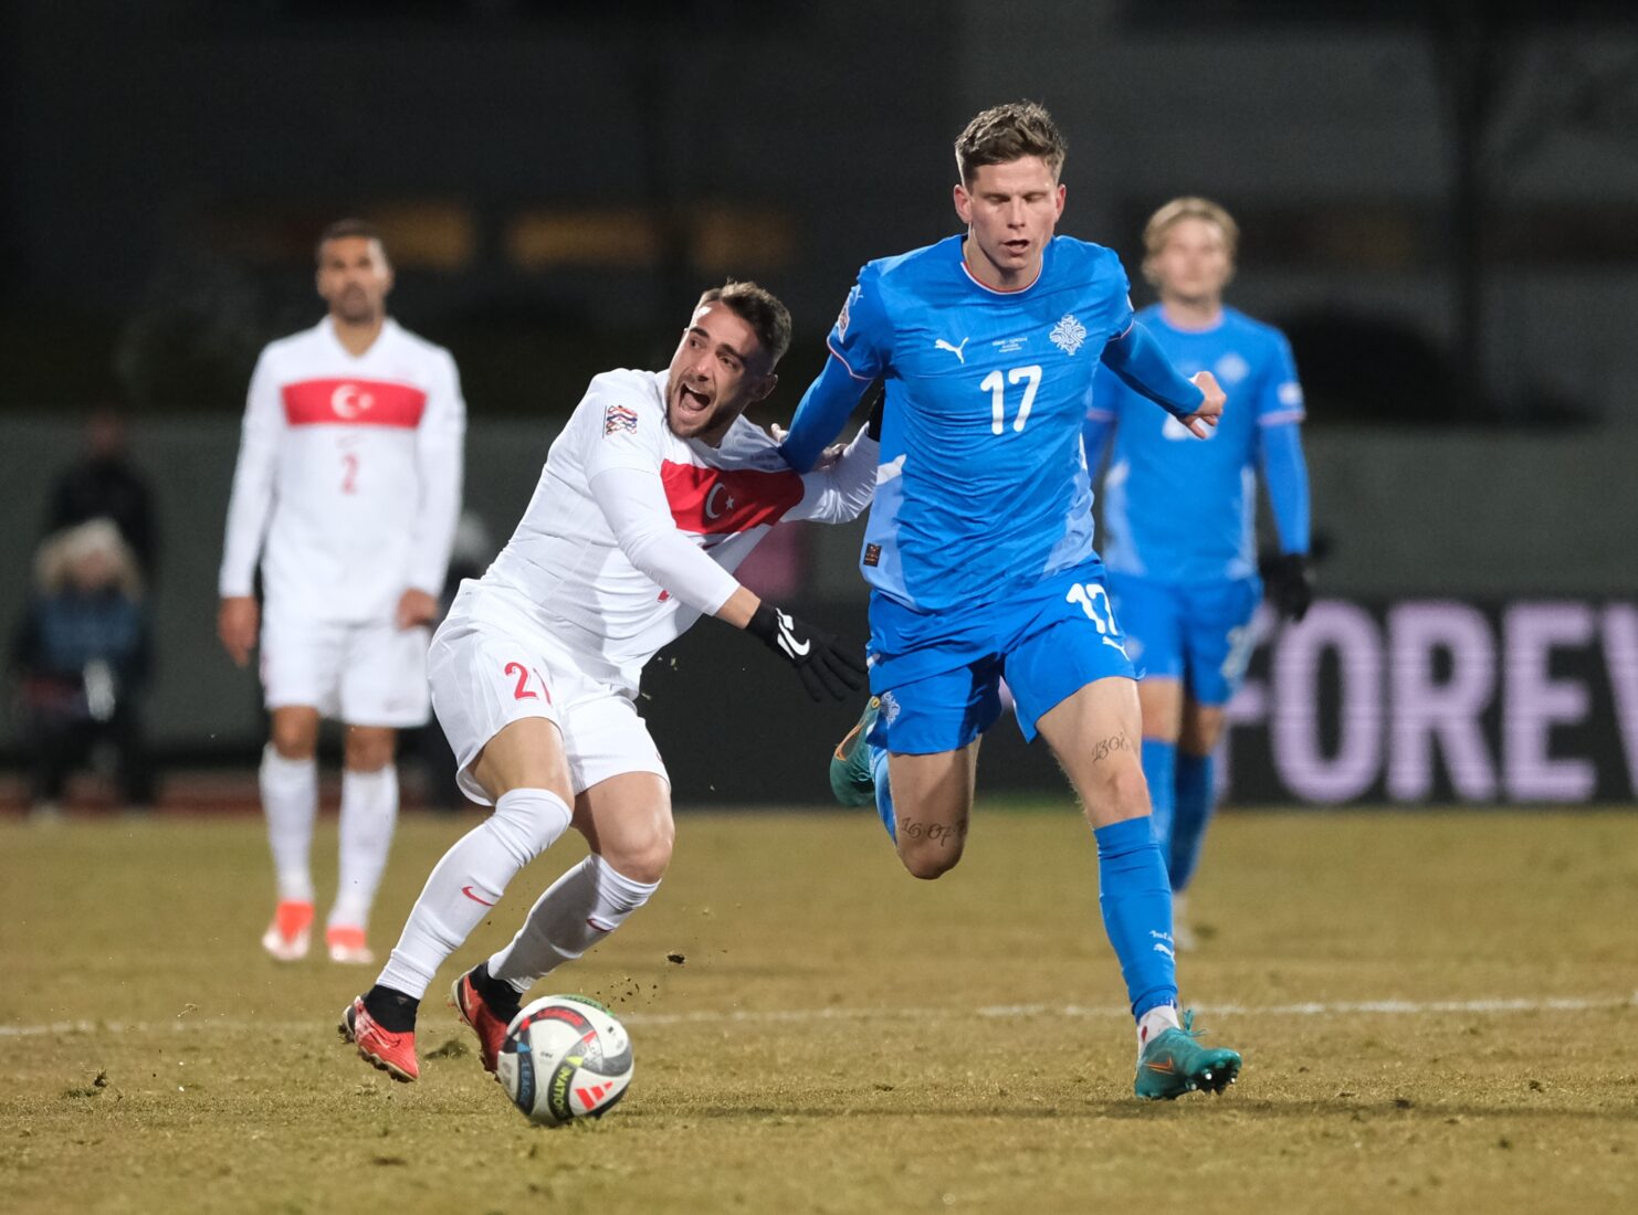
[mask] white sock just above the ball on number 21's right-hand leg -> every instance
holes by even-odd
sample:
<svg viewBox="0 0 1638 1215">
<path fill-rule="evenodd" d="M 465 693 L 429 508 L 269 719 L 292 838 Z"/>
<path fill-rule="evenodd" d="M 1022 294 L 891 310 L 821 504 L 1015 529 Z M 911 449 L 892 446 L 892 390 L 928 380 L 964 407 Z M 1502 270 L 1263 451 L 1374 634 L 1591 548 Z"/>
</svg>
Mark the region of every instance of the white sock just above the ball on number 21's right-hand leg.
<svg viewBox="0 0 1638 1215">
<path fill-rule="evenodd" d="M 511 945 L 490 958 L 490 974 L 518 992 L 590 950 L 660 889 L 632 881 L 598 855 L 586 856 L 541 896 Z"/>
</svg>

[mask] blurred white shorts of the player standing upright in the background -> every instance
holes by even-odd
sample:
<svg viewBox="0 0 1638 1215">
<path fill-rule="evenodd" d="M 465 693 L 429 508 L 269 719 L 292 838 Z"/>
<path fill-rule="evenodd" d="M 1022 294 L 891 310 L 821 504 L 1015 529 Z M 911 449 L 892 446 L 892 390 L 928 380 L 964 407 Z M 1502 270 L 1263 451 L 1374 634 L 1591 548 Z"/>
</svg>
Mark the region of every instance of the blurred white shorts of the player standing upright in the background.
<svg viewBox="0 0 1638 1215">
<path fill-rule="evenodd" d="M 337 624 L 287 612 L 262 617 L 269 709 L 305 704 L 347 725 L 424 725 L 428 629 L 391 621 Z"/>
</svg>

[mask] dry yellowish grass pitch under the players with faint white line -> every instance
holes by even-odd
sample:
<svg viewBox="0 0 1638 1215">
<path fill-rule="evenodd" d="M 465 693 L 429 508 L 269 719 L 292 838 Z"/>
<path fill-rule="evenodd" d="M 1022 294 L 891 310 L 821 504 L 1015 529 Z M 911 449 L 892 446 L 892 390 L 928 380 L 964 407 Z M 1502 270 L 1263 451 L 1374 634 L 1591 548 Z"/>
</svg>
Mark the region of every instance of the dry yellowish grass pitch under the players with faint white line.
<svg viewBox="0 0 1638 1215">
<path fill-rule="evenodd" d="M 403 824 L 380 951 L 475 820 Z M 321 892 L 333 850 L 331 820 Z M 577 855 L 449 963 L 396 1086 L 334 1032 L 373 969 L 257 948 L 260 822 L 0 825 L 0 1207 L 1638 1210 L 1630 814 L 1225 814 L 1181 978 L 1247 1069 L 1174 1104 L 1130 1095 L 1073 812 L 981 807 L 937 883 L 868 812 L 683 814 L 655 901 L 537 989 L 608 1002 L 637 1058 L 549 1131 L 442 997 Z"/>
</svg>

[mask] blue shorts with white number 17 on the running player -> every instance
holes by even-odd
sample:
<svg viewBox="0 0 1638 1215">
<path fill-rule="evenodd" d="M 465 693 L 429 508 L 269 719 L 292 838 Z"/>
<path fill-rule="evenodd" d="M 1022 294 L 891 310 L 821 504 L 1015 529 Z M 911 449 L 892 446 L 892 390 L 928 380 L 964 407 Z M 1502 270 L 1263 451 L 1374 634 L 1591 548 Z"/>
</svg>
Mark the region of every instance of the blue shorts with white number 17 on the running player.
<svg viewBox="0 0 1638 1215">
<path fill-rule="evenodd" d="M 904 632 L 891 616 L 907 611 L 883 596 L 870 604 L 870 691 L 881 698 L 870 742 L 899 755 L 966 747 L 1001 716 L 1002 678 L 1027 740 L 1045 712 L 1086 684 L 1137 678 L 1097 560 L 1004 604 L 945 612 L 939 640 L 889 653 L 883 637 Z"/>
</svg>

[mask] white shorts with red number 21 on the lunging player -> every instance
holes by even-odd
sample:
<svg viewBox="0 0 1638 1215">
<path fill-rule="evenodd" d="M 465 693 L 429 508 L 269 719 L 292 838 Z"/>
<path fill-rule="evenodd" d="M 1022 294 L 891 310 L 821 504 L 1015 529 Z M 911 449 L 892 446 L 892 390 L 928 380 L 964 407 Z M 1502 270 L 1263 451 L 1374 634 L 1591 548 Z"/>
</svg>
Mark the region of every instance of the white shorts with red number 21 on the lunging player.
<svg viewBox="0 0 1638 1215">
<path fill-rule="evenodd" d="M 573 652 L 496 596 L 475 598 L 457 599 L 428 652 L 432 711 L 455 753 L 464 794 L 491 804 L 472 763 L 490 738 L 524 717 L 544 717 L 562 732 L 577 794 L 634 771 L 670 784 L 629 693 L 586 675 Z"/>
</svg>

